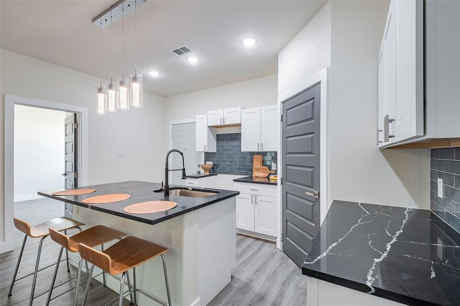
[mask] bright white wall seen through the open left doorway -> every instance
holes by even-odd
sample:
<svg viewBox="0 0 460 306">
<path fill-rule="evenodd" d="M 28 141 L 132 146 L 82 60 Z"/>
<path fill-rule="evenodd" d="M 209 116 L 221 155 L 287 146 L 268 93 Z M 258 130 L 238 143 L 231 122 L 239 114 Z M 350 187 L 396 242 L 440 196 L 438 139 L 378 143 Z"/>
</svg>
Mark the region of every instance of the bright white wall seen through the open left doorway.
<svg viewBox="0 0 460 306">
<path fill-rule="evenodd" d="M 64 188 L 65 112 L 15 105 L 14 201 Z"/>
</svg>

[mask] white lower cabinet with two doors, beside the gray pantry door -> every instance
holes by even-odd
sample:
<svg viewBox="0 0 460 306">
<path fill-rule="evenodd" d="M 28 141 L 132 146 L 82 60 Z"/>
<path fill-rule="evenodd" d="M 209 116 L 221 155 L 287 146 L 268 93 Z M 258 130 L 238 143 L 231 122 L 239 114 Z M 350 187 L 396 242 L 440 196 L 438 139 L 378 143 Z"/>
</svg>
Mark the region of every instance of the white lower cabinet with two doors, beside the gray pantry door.
<svg viewBox="0 0 460 306">
<path fill-rule="evenodd" d="M 236 227 L 276 237 L 276 197 L 240 193 L 236 197 Z"/>
</svg>

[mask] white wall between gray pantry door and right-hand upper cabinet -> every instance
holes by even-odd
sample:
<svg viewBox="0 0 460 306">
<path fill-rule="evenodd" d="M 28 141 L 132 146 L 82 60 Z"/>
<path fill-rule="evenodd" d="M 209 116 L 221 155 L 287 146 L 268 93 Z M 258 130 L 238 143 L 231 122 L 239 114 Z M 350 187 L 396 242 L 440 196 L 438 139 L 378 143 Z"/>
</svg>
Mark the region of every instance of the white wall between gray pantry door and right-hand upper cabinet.
<svg viewBox="0 0 460 306">
<path fill-rule="evenodd" d="M 333 1 L 331 199 L 429 209 L 429 150 L 377 149 L 377 54 L 389 1 Z"/>
</svg>

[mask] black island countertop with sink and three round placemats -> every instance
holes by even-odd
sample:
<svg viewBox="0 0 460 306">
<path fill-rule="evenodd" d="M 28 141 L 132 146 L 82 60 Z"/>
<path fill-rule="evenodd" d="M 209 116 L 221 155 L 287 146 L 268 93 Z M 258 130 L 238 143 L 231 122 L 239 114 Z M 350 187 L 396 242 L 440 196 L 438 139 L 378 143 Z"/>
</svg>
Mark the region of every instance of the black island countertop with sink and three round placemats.
<svg viewBox="0 0 460 306">
<path fill-rule="evenodd" d="M 154 190 L 160 189 L 161 184 L 158 183 L 149 183 L 149 182 L 138 182 L 138 181 L 128 181 L 128 182 L 119 182 L 119 183 L 110 183 L 103 185 L 91 185 L 80 187 L 84 188 L 94 188 L 96 191 L 93 193 L 76 195 L 76 196 L 55 196 L 52 195 L 53 191 L 38 192 L 39 195 L 46 196 L 52 199 L 60 200 L 66 203 L 75 204 L 77 206 L 93 209 L 96 211 L 104 212 L 107 214 L 115 215 L 122 218 L 131 219 L 134 221 L 139 221 L 147 224 L 157 224 L 168 219 L 175 218 L 177 216 L 186 214 L 191 211 L 206 207 L 216 202 L 237 196 L 239 191 L 230 191 L 230 190 L 221 190 L 221 189 L 201 189 L 193 188 L 194 190 L 205 191 L 218 191 L 219 193 L 211 195 L 204 198 L 193 198 L 193 197 L 184 197 L 170 195 L 168 198 L 165 198 L 162 193 L 153 192 Z M 173 187 L 184 187 L 178 185 L 170 185 L 170 188 Z M 96 195 L 103 195 L 109 193 L 127 193 L 131 197 L 127 200 L 105 203 L 105 204 L 93 204 L 88 205 L 82 203 L 82 200 Z M 173 209 L 154 213 L 154 214 L 128 214 L 123 211 L 123 209 L 129 205 L 138 202 L 144 201 L 154 201 L 154 200 L 170 200 L 177 203 L 177 206 Z"/>
</svg>

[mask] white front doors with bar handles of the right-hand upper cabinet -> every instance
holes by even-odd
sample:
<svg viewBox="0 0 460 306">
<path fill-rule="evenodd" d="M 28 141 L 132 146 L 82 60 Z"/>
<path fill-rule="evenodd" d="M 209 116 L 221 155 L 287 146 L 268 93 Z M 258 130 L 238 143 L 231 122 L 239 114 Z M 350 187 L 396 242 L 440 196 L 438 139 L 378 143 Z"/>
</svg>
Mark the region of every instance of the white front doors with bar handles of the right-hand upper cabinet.
<svg viewBox="0 0 460 306">
<path fill-rule="evenodd" d="M 378 145 L 423 135 L 423 2 L 390 3 L 378 54 Z"/>
</svg>

